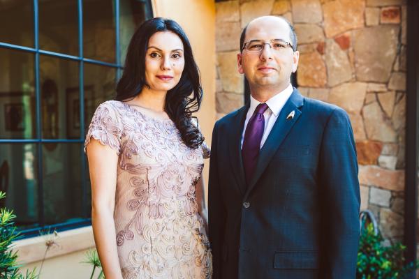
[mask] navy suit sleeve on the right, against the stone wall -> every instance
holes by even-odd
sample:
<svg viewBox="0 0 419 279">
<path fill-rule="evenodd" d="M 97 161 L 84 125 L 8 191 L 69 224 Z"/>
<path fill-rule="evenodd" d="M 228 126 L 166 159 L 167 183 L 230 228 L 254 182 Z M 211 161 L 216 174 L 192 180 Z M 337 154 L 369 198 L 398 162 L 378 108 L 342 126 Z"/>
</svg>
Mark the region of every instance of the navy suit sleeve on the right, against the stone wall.
<svg viewBox="0 0 419 279">
<path fill-rule="evenodd" d="M 319 278 L 353 279 L 360 236 L 360 186 L 353 130 L 344 110 L 337 108 L 330 115 L 320 152 L 322 259 Z"/>
</svg>

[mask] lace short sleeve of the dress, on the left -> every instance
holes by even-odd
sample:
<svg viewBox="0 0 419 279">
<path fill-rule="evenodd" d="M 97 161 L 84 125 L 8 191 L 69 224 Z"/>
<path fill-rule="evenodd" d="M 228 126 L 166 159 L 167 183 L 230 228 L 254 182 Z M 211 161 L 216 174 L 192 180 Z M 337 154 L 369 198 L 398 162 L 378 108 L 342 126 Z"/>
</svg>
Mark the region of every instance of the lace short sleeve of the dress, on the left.
<svg viewBox="0 0 419 279">
<path fill-rule="evenodd" d="M 98 140 L 103 145 L 108 145 L 121 153 L 122 123 L 120 114 L 112 105 L 112 101 L 102 103 L 94 112 L 87 130 L 86 140 L 84 141 L 84 152 L 89 144 L 91 137 Z"/>
</svg>

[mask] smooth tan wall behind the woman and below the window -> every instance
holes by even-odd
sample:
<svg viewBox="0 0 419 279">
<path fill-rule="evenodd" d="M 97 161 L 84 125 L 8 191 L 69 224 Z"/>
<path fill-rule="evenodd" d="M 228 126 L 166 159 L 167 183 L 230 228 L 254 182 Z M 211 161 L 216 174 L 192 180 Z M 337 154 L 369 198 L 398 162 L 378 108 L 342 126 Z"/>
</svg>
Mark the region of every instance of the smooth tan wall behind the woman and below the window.
<svg viewBox="0 0 419 279">
<path fill-rule="evenodd" d="M 204 100 L 197 116 L 207 144 L 211 142 L 215 121 L 215 5 L 213 0 L 154 0 L 154 16 L 169 17 L 177 21 L 189 36 L 196 62 L 200 68 Z M 209 161 L 205 161 L 205 182 Z M 205 187 L 207 188 L 207 187 Z M 47 253 L 41 279 L 90 278 L 91 266 L 81 264 L 89 247 L 94 247 L 91 227 L 61 234 L 57 246 Z M 84 243 L 83 243 L 84 242 Z M 82 243 L 82 245 L 80 245 Z M 26 269 L 39 269 L 45 252 L 45 239 L 17 241 L 21 262 Z M 80 246 L 78 246 L 80 245 Z M 97 274 L 97 273 L 96 273 Z"/>
</svg>

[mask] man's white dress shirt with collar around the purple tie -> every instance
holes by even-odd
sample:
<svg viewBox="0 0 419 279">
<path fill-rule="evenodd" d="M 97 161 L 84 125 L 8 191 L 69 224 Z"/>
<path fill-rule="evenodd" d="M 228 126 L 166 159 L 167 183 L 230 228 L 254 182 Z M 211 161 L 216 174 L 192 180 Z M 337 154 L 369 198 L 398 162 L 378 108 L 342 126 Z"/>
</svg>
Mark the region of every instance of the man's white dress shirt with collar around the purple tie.
<svg viewBox="0 0 419 279">
<path fill-rule="evenodd" d="M 279 116 L 279 113 L 282 110 L 282 107 L 284 107 L 286 101 L 288 98 L 290 98 L 291 93 L 293 93 L 294 89 L 291 84 L 288 85 L 284 91 L 281 91 L 274 95 L 272 98 L 266 101 L 266 105 L 269 107 L 267 110 L 265 110 L 265 113 L 263 113 L 263 116 L 265 117 L 265 129 L 263 130 L 263 136 L 262 140 L 260 141 L 260 148 L 262 148 L 263 144 L 265 143 L 265 140 L 267 139 L 267 136 L 269 135 L 270 131 L 272 130 L 272 127 L 274 126 L 275 121 L 277 121 L 277 118 Z M 244 121 L 244 128 L 242 132 L 242 141 L 241 146 L 243 147 L 243 140 L 244 140 L 244 133 L 246 132 L 247 123 L 249 123 L 249 119 L 253 115 L 253 112 L 256 110 L 256 107 L 260 104 L 258 100 L 253 98 L 253 96 L 250 96 L 250 107 L 247 111 L 246 115 L 246 121 Z"/>
</svg>

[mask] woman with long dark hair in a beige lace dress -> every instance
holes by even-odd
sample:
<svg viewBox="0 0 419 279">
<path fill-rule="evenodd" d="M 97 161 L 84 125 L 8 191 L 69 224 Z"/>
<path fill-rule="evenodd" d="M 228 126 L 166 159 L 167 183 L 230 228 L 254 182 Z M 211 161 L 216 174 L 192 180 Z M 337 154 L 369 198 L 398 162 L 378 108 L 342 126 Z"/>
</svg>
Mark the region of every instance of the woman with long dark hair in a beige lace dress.
<svg viewBox="0 0 419 279">
<path fill-rule="evenodd" d="M 202 98 L 179 25 L 144 22 L 116 100 L 97 108 L 85 146 L 94 239 L 107 279 L 210 278 L 203 195 L 209 151 L 191 114 Z"/>
</svg>

